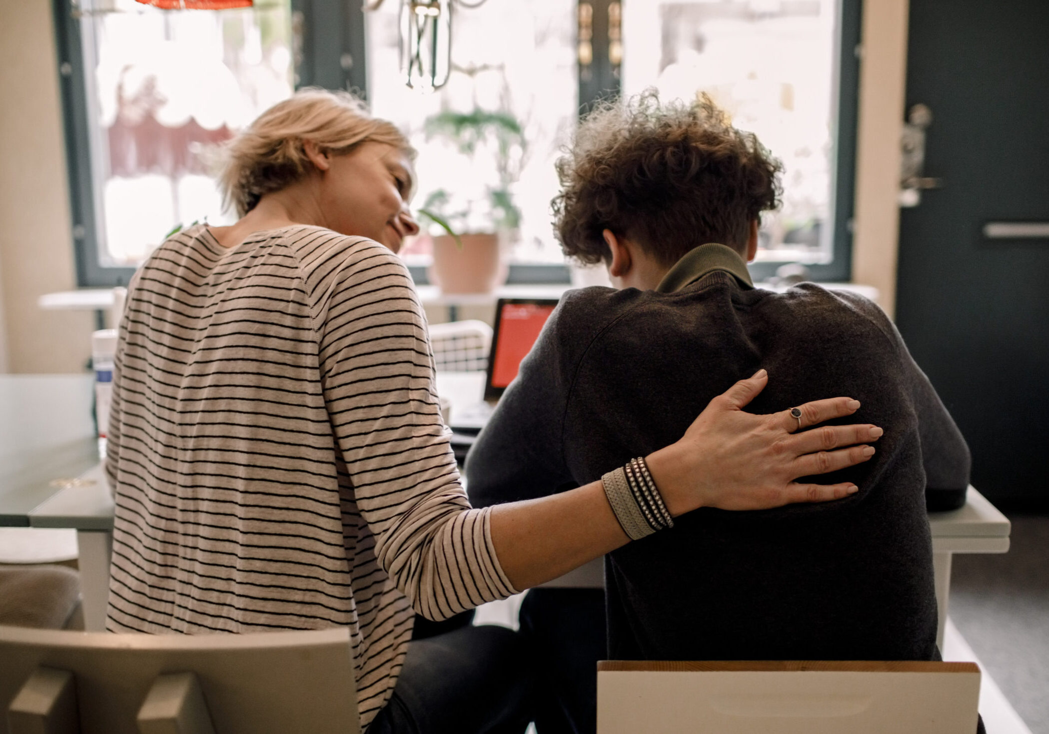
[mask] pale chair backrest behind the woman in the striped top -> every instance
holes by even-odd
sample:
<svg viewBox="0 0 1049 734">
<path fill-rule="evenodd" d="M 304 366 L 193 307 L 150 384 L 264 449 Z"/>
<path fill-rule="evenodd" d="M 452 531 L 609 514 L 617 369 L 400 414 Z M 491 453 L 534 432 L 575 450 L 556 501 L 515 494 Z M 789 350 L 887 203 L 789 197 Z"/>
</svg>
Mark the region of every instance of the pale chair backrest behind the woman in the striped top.
<svg viewBox="0 0 1049 734">
<path fill-rule="evenodd" d="M 79 718 L 70 731 L 81 734 L 209 731 L 163 720 L 179 696 L 193 705 L 201 693 L 219 734 L 360 732 L 346 628 L 154 635 L 0 627 L 0 734 L 65 731 L 34 728 L 26 713 L 50 692 L 58 698 L 63 681 Z"/>
</svg>

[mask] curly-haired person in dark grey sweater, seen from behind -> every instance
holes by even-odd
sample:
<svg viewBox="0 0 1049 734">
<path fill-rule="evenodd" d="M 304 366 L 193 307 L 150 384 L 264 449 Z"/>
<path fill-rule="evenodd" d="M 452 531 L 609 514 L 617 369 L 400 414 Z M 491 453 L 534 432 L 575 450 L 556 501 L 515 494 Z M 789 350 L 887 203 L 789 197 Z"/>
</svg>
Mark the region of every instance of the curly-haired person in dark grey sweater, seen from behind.
<svg viewBox="0 0 1049 734">
<path fill-rule="evenodd" d="M 964 501 L 968 450 L 878 306 L 813 283 L 754 287 L 746 262 L 780 168 L 708 99 L 652 93 L 592 113 L 558 163 L 564 254 L 603 263 L 616 287 L 570 292 L 551 316 L 468 458 L 475 506 L 592 481 L 758 367 L 773 379 L 762 411 L 850 394 L 884 435 L 837 475 L 859 487 L 851 497 L 699 510 L 608 554 L 603 592 L 530 591 L 540 734 L 594 731 L 606 655 L 938 659 L 926 499 Z"/>
</svg>

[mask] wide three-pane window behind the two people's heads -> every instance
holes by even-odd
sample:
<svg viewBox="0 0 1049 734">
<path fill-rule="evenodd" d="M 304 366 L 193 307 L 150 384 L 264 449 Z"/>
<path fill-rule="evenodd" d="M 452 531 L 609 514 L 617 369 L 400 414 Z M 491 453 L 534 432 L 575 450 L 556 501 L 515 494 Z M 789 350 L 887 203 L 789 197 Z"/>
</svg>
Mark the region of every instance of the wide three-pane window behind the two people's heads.
<svg viewBox="0 0 1049 734">
<path fill-rule="evenodd" d="M 510 282 L 566 281 L 553 161 L 579 110 L 617 93 L 620 78 L 626 93 L 707 90 L 784 159 L 785 208 L 766 221 L 757 278 L 786 261 L 817 279 L 850 277 L 859 0 L 453 3 L 453 69 L 431 94 L 401 79 L 397 0 L 372 13 L 345 0 L 189 12 L 52 2 L 81 285 L 126 283 L 176 224 L 228 221 L 209 151 L 303 85 L 352 89 L 401 126 L 420 150 L 414 206 L 443 206 L 456 229 L 490 221 L 491 192 L 505 189 L 519 211 L 518 225 L 502 228 Z M 427 129 L 442 113 L 477 110 L 523 132 L 494 167 L 491 139 L 464 158 Z M 404 255 L 425 279 L 426 238 Z"/>
</svg>

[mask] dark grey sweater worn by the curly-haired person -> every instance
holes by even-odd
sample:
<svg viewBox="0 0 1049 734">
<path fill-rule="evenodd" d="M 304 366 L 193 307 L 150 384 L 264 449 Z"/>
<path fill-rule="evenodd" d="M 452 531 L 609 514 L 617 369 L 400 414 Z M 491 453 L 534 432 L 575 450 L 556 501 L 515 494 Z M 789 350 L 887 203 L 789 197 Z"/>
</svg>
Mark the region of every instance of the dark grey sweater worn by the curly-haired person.
<svg viewBox="0 0 1049 734">
<path fill-rule="evenodd" d="M 964 496 L 965 441 L 875 304 L 811 283 L 754 289 L 727 247 L 692 251 L 659 290 L 565 294 L 468 458 L 470 499 L 599 479 L 677 440 L 759 367 L 770 381 L 753 412 L 849 395 L 862 407 L 848 422 L 884 428 L 872 460 L 819 479 L 859 492 L 764 512 L 703 509 L 609 554 L 611 656 L 933 660 L 925 496 Z"/>
</svg>

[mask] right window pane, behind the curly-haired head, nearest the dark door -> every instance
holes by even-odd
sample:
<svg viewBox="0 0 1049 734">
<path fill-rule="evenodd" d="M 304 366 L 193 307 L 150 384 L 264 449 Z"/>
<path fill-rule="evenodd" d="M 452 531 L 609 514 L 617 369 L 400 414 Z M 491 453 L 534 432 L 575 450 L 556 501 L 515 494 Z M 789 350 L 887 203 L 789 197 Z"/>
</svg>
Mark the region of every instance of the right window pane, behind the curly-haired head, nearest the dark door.
<svg viewBox="0 0 1049 734">
<path fill-rule="evenodd" d="M 836 0 L 623 3 L 623 92 L 707 92 L 784 163 L 757 260 L 832 259 Z"/>
</svg>

